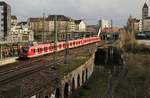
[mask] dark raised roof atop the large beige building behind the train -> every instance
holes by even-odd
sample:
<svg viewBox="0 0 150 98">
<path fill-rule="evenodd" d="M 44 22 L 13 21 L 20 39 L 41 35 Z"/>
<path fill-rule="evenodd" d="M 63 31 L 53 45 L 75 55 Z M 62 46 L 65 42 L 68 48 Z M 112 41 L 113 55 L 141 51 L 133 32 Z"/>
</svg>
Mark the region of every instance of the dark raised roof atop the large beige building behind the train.
<svg viewBox="0 0 150 98">
<path fill-rule="evenodd" d="M 70 19 L 64 15 L 49 15 L 46 20 L 54 21 L 55 16 L 57 16 L 57 21 L 69 21 Z"/>
</svg>

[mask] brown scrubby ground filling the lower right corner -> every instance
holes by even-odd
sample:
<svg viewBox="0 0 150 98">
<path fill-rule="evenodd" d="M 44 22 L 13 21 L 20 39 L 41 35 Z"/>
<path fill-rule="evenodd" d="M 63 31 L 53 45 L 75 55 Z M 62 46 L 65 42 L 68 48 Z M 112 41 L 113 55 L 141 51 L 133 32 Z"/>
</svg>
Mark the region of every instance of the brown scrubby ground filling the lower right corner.
<svg viewBox="0 0 150 98">
<path fill-rule="evenodd" d="M 117 84 L 116 98 L 150 98 L 150 54 L 126 55 L 128 74 Z"/>
</svg>

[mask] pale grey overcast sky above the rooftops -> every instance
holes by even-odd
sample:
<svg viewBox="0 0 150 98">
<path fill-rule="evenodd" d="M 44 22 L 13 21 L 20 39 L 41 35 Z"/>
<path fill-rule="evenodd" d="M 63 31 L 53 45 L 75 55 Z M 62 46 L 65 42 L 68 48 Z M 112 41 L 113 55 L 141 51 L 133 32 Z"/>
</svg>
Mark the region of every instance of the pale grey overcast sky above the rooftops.
<svg viewBox="0 0 150 98">
<path fill-rule="evenodd" d="M 96 24 L 99 19 L 112 19 L 114 25 L 125 25 L 129 14 L 141 18 L 141 8 L 150 0 L 4 0 L 11 5 L 19 20 L 42 16 L 43 13 L 63 14 Z"/>
</svg>

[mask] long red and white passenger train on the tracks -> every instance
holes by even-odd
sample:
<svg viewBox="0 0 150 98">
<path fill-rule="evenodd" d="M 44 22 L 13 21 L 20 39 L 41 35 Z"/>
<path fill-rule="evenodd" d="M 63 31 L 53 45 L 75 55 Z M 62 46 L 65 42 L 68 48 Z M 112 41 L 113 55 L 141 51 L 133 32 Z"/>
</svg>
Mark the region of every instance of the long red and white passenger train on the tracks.
<svg viewBox="0 0 150 98">
<path fill-rule="evenodd" d="M 34 46 L 28 46 L 28 47 L 22 47 L 20 49 L 20 58 L 33 58 L 38 57 L 41 55 L 53 53 L 54 49 L 55 51 L 62 51 L 64 49 L 68 48 L 75 48 L 83 45 L 87 45 L 90 43 L 96 43 L 99 42 L 99 37 L 89 37 L 89 38 L 81 38 L 76 40 L 70 40 L 67 43 L 65 41 L 58 42 L 57 45 L 54 48 L 54 43 L 50 44 L 40 44 L 40 45 L 34 45 Z"/>
</svg>

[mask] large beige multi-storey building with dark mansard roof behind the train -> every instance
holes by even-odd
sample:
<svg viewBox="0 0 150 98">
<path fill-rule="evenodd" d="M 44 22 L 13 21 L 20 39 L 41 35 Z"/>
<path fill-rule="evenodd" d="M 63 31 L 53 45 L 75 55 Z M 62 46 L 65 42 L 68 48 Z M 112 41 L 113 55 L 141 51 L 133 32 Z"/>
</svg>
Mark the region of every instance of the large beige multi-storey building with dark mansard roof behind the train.
<svg viewBox="0 0 150 98">
<path fill-rule="evenodd" d="M 44 40 L 44 42 L 53 40 L 55 30 L 58 33 L 58 40 L 62 37 L 64 38 L 65 32 L 75 31 L 74 19 L 64 15 L 49 15 L 47 18 L 29 18 L 28 24 L 30 29 L 35 32 L 35 40 Z"/>
</svg>

